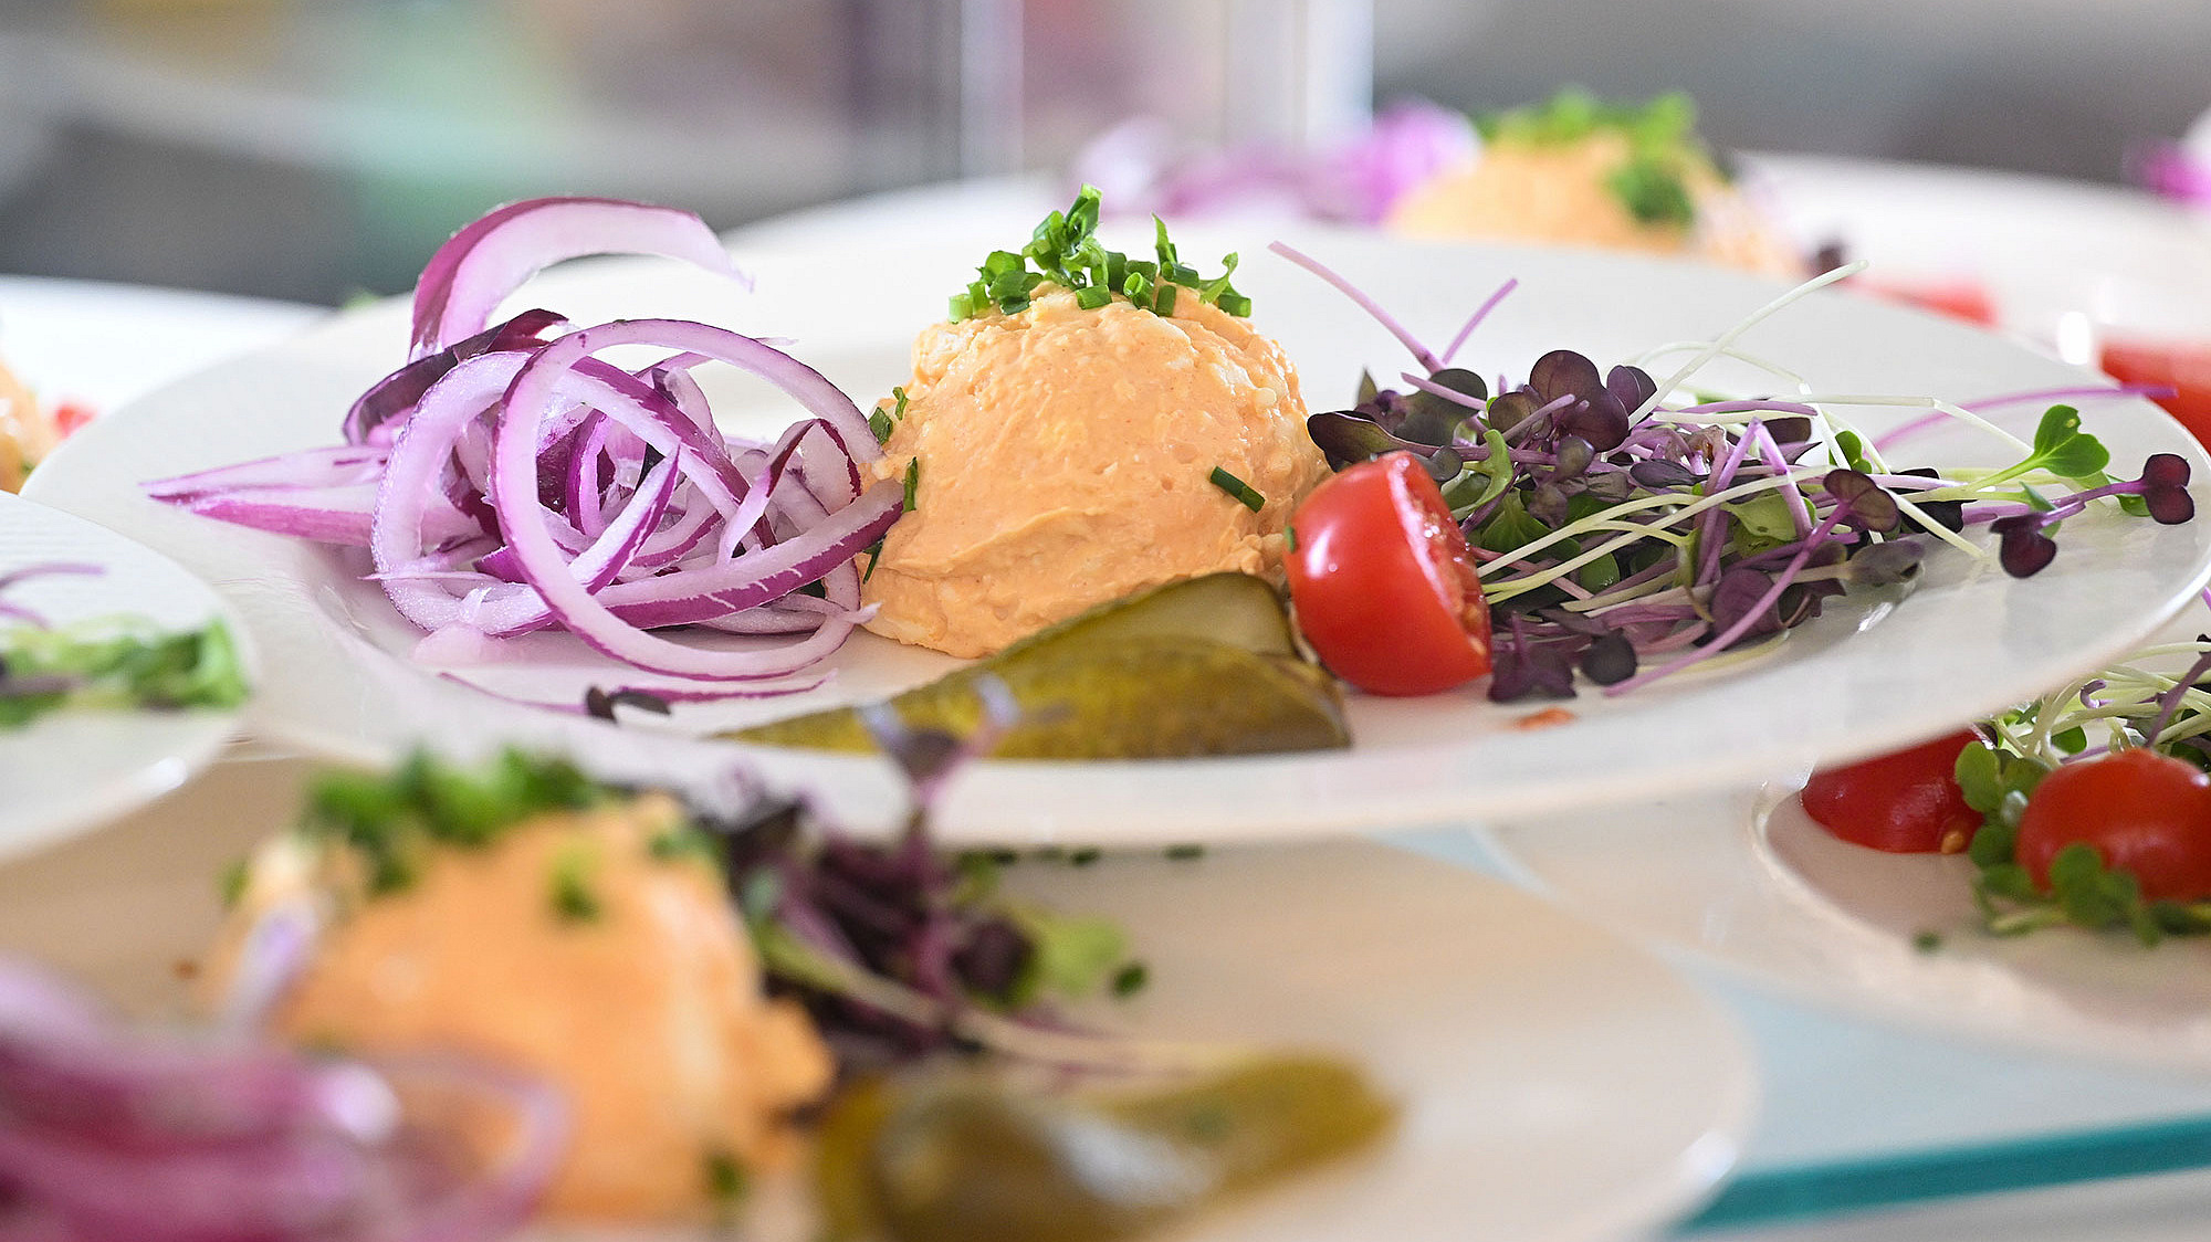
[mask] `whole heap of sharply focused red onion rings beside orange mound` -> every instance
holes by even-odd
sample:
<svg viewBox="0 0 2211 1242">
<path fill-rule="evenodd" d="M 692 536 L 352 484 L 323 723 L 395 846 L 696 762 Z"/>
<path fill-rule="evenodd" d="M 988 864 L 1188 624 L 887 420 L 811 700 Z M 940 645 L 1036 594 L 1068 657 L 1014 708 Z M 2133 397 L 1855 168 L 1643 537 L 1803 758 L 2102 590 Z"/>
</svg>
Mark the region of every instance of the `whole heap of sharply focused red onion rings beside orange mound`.
<svg viewBox="0 0 2211 1242">
<path fill-rule="evenodd" d="M 429 634 L 422 652 L 564 625 L 674 676 L 756 681 L 818 661 L 867 619 L 853 557 L 900 513 L 895 484 L 862 493 L 880 446 L 851 398 L 765 340 L 699 323 L 624 320 L 555 340 L 551 312 L 482 327 L 537 267 L 619 250 L 734 274 L 685 212 L 606 199 L 502 208 L 431 261 L 416 358 L 347 413 L 358 442 L 148 491 L 367 546 L 374 581 Z M 597 358 L 619 345 L 668 356 L 635 373 Z M 725 438 L 692 376 L 705 362 L 767 378 L 809 418 L 774 444 Z M 820 583 L 820 608 L 792 599 L 807 583 Z M 643 632 L 670 625 L 789 641 L 708 652 Z"/>
</svg>

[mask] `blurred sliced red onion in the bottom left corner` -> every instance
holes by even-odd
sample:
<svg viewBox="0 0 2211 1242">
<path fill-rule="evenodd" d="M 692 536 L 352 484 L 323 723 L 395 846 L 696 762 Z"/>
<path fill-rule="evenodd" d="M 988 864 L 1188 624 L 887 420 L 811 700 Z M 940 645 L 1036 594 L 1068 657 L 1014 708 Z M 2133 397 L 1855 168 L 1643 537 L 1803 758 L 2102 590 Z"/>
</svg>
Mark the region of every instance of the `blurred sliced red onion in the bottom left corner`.
<svg viewBox="0 0 2211 1242">
<path fill-rule="evenodd" d="M 458 1147 L 400 1107 L 425 1092 L 513 1118 L 509 1151 L 453 1165 Z M 0 961 L 0 1235 L 66 1242 L 489 1242 L 528 1218 L 568 1134 L 535 1081 L 128 1032 L 13 961 Z"/>
</svg>

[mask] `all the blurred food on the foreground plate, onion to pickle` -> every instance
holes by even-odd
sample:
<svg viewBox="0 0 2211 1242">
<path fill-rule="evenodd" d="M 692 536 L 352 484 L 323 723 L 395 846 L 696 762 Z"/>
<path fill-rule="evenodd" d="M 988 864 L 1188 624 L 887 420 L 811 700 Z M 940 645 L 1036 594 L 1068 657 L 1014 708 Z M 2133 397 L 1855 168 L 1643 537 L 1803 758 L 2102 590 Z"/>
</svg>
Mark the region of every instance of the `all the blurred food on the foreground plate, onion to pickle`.
<svg viewBox="0 0 2211 1242">
<path fill-rule="evenodd" d="M 1106 1242 L 1389 1132 L 1333 1056 L 1070 1023 L 1145 964 L 933 851 L 973 747 L 882 727 L 920 798 L 889 844 L 524 754 L 327 776 L 226 880 L 190 1034 L 0 961 L 0 1233 L 462 1242 L 811 1189 L 825 1238 Z"/>
</svg>

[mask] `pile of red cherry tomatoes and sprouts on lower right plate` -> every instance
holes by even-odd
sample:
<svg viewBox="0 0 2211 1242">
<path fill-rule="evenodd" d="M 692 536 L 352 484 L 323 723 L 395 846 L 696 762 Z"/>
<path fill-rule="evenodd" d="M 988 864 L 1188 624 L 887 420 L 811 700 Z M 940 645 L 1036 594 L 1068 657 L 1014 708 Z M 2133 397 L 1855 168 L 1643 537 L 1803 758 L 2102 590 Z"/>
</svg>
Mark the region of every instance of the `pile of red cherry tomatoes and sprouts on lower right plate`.
<svg viewBox="0 0 2211 1242">
<path fill-rule="evenodd" d="M 1813 773 L 1806 813 L 1890 853 L 1963 853 L 1994 935 L 2211 935 L 2211 636 L 1904 751 Z"/>
</svg>

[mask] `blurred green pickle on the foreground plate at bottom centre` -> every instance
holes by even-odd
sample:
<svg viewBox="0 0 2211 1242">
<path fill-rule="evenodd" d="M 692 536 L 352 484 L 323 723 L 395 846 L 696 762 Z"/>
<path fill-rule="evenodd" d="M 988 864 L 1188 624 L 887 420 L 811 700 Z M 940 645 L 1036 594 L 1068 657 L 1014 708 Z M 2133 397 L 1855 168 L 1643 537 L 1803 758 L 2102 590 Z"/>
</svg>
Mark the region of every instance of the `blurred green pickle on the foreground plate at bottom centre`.
<svg viewBox="0 0 2211 1242">
<path fill-rule="evenodd" d="M 1393 1120 L 1324 1056 L 1112 1094 L 946 1072 L 849 1092 L 822 1125 L 818 1185 L 840 1240 L 1114 1242 L 1360 1151 Z"/>
</svg>

